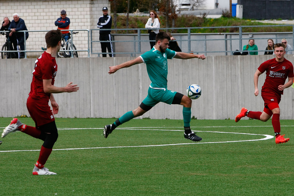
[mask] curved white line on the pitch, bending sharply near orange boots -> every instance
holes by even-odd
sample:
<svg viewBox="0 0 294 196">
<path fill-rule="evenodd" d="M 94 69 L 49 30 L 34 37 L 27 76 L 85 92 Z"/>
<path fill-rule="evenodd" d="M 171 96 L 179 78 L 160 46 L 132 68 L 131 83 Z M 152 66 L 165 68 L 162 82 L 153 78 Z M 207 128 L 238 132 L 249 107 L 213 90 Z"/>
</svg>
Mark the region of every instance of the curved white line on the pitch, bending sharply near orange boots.
<svg viewBox="0 0 294 196">
<path fill-rule="evenodd" d="M 152 127 L 146 127 L 146 128 L 152 128 Z M 154 127 L 154 128 L 159 128 L 159 127 Z M 171 127 L 169 127 L 169 128 L 171 128 Z M 101 129 L 101 128 L 77 128 L 77 129 Z M 121 129 L 183 131 L 183 130 L 165 130 L 165 129 L 142 129 L 141 127 L 140 128 L 121 128 Z M 61 130 L 73 130 L 73 128 L 61 128 Z M 234 132 L 220 132 L 220 131 L 197 131 L 197 132 L 232 133 L 232 134 L 243 134 L 243 135 L 262 135 L 262 134 L 252 134 L 252 133 L 234 133 Z M 92 147 L 92 148 L 64 148 L 64 149 L 53 149 L 53 150 L 83 150 L 83 149 L 99 149 L 99 148 L 134 148 L 134 147 L 138 148 L 138 147 L 173 146 L 173 145 L 188 145 L 188 144 L 249 142 L 249 141 L 258 141 L 258 140 L 268 140 L 268 139 L 271 139 L 274 137 L 272 135 L 262 135 L 262 136 L 265 136 L 265 138 L 256 139 L 256 140 L 239 140 L 239 141 L 224 141 L 224 142 L 179 143 L 179 144 L 160 144 L 160 145 L 141 145 L 141 146 L 108 146 L 108 147 Z M 40 151 L 40 150 L 3 150 L 0 152 L 20 152 L 20 151 Z"/>
</svg>

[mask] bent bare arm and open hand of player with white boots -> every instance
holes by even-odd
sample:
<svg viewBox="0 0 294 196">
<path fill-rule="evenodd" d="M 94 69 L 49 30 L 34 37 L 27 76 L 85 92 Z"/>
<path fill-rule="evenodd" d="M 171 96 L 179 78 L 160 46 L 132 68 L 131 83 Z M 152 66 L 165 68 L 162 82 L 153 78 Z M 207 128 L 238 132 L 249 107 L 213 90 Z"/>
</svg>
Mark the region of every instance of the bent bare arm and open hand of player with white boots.
<svg viewBox="0 0 294 196">
<path fill-rule="evenodd" d="M 77 84 L 68 83 L 65 87 L 57 87 L 51 84 L 52 79 L 43 79 L 43 89 L 45 93 L 71 93 L 78 91 L 79 87 Z"/>
</svg>

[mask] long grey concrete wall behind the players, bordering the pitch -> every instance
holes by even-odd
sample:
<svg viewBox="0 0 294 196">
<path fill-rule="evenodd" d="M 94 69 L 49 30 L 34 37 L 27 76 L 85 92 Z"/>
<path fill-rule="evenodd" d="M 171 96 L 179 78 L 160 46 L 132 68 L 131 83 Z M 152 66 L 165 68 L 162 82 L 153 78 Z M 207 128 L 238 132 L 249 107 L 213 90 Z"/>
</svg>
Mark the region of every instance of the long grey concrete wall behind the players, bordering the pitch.
<svg viewBox="0 0 294 196">
<path fill-rule="evenodd" d="M 258 56 L 208 56 L 200 59 L 168 60 L 168 89 L 186 94 L 190 84 L 201 86 L 202 95 L 193 100 L 192 116 L 198 119 L 234 119 L 241 107 L 263 110 L 261 96 L 254 96 L 253 75 L 258 66 L 273 58 Z M 285 55 L 293 62 L 293 55 Z M 118 118 L 138 107 L 147 96 L 149 78 L 145 64 L 109 75 L 109 66 L 131 60 L 115 58 L 56 59 L 55 86 L 78 84 L 75 93 L 54 94 L 59 104 L 55 117 Z M 35 59 L 0 59 L 0 117 L 29 115 L 26 99 L 30 91 Z M 261 90 L 265 74 L 260 76 Z M 180 105 L 159 103 L 143 117 L 183 119 Z M 280 103 L 281 119 L 293 117 L 293 88 L 285 89 Z M 247 118 L 247 117 L 246 117 Z"/>
</svg>

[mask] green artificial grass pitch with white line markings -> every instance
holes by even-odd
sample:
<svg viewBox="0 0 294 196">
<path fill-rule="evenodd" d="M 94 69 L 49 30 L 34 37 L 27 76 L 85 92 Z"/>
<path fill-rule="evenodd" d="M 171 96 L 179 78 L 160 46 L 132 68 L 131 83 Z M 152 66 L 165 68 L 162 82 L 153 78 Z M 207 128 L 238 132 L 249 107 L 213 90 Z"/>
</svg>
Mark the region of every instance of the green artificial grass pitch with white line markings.
<svg viewBox="0 0 294 196">
<path fill-rule="evenodd" d="M 10 120 L 0 118 L 0 127 Z M 115 120 L 57 118 L 59 138 L 45 165 L 57 175 L 32 175 L 41 140 L 19 131 L 0 138 L 0 194 L 294 194 L 293 120 L 281 120 L 290 141 L 279 145 L 270 120 L 191 120 L 198 143 L 184 139 L 183 120 L 169 119 L 133 119 L 105 139 L 104 125 Z"/>
</svg>

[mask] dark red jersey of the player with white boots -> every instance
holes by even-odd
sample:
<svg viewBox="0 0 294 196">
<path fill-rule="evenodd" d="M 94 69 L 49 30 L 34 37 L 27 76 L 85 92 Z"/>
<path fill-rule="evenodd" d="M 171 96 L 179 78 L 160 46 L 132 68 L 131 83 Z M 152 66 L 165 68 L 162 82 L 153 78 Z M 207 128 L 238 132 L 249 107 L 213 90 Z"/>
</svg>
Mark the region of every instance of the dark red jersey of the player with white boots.
<svg viewBox="0 0 294 196">
<path fill-rule="evenodd" d="M 43 88 L 43 79 L 52 79 L 51 84 L 54 85 L 54 79 L 57 73 L 57 64 L 55 57 L 46 51 L 35 61 L 33 71 L 33 80 L 31 83 L 31 91 L 29 96 L 38 100 L 48 100 L 51 93 L 45 93 Z"/>
</svg>

